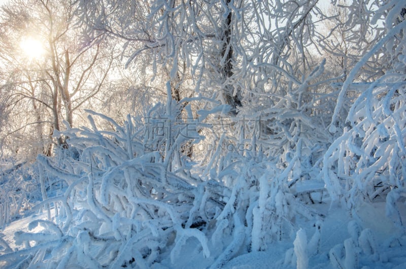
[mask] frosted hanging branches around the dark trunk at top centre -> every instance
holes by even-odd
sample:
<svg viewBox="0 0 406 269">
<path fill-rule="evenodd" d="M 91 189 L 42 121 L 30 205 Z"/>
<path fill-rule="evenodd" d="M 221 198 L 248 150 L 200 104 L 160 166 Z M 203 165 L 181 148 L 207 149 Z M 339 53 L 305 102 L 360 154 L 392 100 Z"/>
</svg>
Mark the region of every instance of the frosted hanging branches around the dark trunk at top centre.
<svg viewBox="0 0 406 269">
<path fill-rule="evenodd" d="M 268 81 L 276 87 L 279 68 L 291 69 L 289 52 L 303 52 L 312 42 L 306 36 L 317 2 L 96 1 L 80 7 L 89 29 L 126 41 L 128 66 L 150 66 L 155 74 L 164 67 L 176 81 L 174 92 L 187 75 L 195 93 L 216 93 L 235 112 L 249 92 L 266 92 Z M 188 73 L 180 75 L 180 69 Z"/>
</svg>

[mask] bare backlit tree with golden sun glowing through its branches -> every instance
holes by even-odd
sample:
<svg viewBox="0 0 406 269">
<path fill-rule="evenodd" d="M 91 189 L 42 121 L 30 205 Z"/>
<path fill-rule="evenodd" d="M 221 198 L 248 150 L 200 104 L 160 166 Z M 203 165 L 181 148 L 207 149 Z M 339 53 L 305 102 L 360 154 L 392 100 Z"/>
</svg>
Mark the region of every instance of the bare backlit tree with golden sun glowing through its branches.
<svg viewBox="0 0 406 269">
<path fill-rule="evenodd" d="M 18 128 L 27 134 L 32 130 L 25 126 L 37 126 L 34 133 L 43 141 L 42 151 L 47 155 L 52 152 L 53 131 L 63 129 L 62 120 L 74 125 L 75 111 L 107 89 L 108 74 L 115 64 L 113 45 L 102 41 L 94 47 L 82 44 L 74 11 L 73 1 L 16 1 L 2 8 L 1 50 L 7 73 L 2 87 L 9 89 L 8 106 L 14 107 L 14 115 L 21 110 L 36 115 L 26 118 L 20 127 L 11 127 L 9 134 Z M 24 40 L 31 41 L 24 44 Z M 39 57 L 29 55 L 36 52 L 23 51 L 22 46 L 33 46 L 32 40 L 39 44 L 37 50 L 43 50 Z M 63 138 L 56 138 L 57 145 L 63 143 Z"/>
</svg>

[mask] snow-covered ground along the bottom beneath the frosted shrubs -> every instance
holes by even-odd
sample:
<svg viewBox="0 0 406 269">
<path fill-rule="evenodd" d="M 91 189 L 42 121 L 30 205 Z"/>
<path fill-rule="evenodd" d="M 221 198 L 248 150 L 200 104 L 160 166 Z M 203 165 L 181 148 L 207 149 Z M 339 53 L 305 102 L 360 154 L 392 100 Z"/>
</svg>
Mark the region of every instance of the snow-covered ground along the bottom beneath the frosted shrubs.
<svg viewBox="0 0 406 269">
<path fill-rule="evenodd" d="M 398 206 L 402 221 L 406 221 L 406 206 L 403 203 L 399 203 Z M 309 268 L 337 268 L 340 266 L 350 268 L 354 265 L 354 268 L 400 269 L 406 266 L 406 237 L 399 227 L 396 227 L 393 221 L 386 216 L 385 203 L 374 203 L 373 205 L 364 203 L 357 210 L 355 218 L 349 216 L 348 211 L 343 208 L 330 208 L 329 203 L 326 202 L 314 204 L 312 207 L 322 215 L 320 221 L 312 223 L 306 219 L 296 220 L 297 227 L 302 228 L 307 237 L 305 243 L 308 246 L 306 255 Z M 55 219 L 55 216 L 51 217 Z M 13 251 L 26 248 L 27 246 L 15 244 L 14 235 L 20 232 L 40 234 L 46 232 L 40 225 L 29 229 L 31 222 L 40 219 L 46 220 L 47 214 L 31 214 L 7 224 L 3 230 L 0 230 L 2 239 Z M 317 225 L 320 225 L 320 231 Z M 223 241 L 217 242 L 217 244 L 227 246 L 232 241 L 231 236 L 222 235 L 222 239 Z M 295 239 L 295 235 L 291 237 L 291 240 L 270 243 L 265 251 L 247 252 L 246 249 L 235 249 L 232 258 L 221 267 L 228 269 L 294 268 L 296 267 L 296 257 L 293 239 Z M 347 244 L 349 244 L 347 239 L 352 239 L 354 242 L 352 253 L 346 250 Z M 36 243 L 31 241 L 30 245 L 32 247 Z M 171 261 L 170 251 L 163 249 L 160 262 L 154 263 L 152 268 L 209 268 L 224 246 L 213 245 L 212 242 L 209 242 L 208 246 L 211 255 L 205 257 L 199 241 L 191 237 L 182 246 L 174 261 Z M 4 247 L 3 249 L 0 247 L 0 251 L 3 250 Z M 98 245 L 90 245 L 89 253 L 96 254 L 98 251 Z M 331 261 L 330 256 L 333 254 L 341 255 L 339 257 L 340 265 Z M 351 261 L 348 257 L 349 254 L 354 255 L 354 260 Z M 99 257 L 99 261 L 103 259 L 107 260 L 106 257 Z M 6 260 L 0 255 L 1 267 L 14 267 Z M 77 265 L 87 267 L 87 263 L 80 260 L 77 261 Z M 297 265 L 297 267 L 299 266 Z"/>
</svg>

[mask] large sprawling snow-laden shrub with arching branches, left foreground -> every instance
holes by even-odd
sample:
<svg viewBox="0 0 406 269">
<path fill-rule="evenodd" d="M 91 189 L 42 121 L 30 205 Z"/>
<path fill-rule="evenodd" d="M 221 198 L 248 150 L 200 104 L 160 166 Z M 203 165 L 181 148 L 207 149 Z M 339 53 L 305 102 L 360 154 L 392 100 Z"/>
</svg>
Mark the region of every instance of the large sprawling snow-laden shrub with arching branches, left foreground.
<svg viewBox="0 0 406 269">
<path fill-rule="evenodd" d="M 88 112 L 93 114 L 89 116 L 91 129 L 69 128 L 62 133 L 68 137 L 65 153 L 71 152 L 65 154 L 63 162 L 60 156 L 38 157 L 42 181 L 59 178 L 67 184 L 59 195 L 43 193 L 44 201 L 36 206 L 48 208 L 49 223 L 55 231 L 60 230 L 59 243 L 52 234 L 18 233 L 16 243 L 36 241 L 36 245 L 29 248 L 26 244 L 28 248 L 2 259 L 11 262 L 31 253 L 27 259 L 42 258 L 28 263 L 45 262 L 43 254 L 53 247 L 49 264 L 62 266 L 81 260 L 90 267 L 133 262 L 149 267 L 164 251 L 171 252 L 171 259 L 178 259 L 191 237 L 209 257 L 208 239 L 200 229 L 224 206 L 219 201 L 224 191 L 217 182 L 202 182 L 183 176 L 184 171 L 177 172 L 182 163 L 175 149 L 186 138 L 173 134 L 184 126 L 171 121 L 171 114 L 166 113 L 163 127 L 169 133 L 159 137 L 148 134 L 148 124 L 135 126 L 129 116 L 125 125 L 119 126 L 104 115 Z M 93 117 L 109 122 L 114 130 L 98 130 Z M 162 143 L 160 149 L 151 149 L 151 145 Z M 89 252 L 90 246 L 99 246 L 98 252 Z"/>
</svg>

